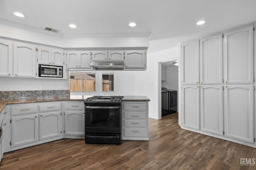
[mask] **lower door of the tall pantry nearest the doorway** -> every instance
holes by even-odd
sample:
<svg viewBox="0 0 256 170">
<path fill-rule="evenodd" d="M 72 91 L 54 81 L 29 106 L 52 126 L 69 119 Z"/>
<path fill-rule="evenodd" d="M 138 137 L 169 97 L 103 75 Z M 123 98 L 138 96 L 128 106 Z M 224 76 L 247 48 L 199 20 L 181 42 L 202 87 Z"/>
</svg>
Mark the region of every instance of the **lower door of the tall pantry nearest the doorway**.
<svg viewBox="0 0 256 170">
<path fill-rule="evenodd" d="M 199 130 L 199 87 L 182 86 L 182 126 Z"/>
</svg>

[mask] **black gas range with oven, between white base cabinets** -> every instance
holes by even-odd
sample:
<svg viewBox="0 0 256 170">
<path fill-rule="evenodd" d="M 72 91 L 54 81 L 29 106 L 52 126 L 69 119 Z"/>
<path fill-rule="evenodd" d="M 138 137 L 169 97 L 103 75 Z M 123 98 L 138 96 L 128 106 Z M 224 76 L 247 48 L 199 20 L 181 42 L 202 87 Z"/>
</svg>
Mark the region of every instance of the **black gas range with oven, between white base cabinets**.
<svg viewBox="0 0 256 170">
<path fill-rule="evenodd" d="M 122 143 L 123 98 L 93 96 L 84 101 L 85 143 Z"/>
</svg>

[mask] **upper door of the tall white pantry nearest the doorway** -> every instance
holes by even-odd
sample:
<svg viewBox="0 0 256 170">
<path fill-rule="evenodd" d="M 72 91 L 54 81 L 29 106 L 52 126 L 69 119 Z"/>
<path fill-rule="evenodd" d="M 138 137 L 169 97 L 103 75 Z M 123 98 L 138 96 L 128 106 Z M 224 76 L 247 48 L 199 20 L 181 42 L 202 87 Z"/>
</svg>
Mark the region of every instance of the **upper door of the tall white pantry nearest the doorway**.
<svg viewBox="0 0 256 170">
<path fill-rule="evenodd" d="M 182 84 L 199 84 L 199 40 L 181 47 Z"/>
</svg>

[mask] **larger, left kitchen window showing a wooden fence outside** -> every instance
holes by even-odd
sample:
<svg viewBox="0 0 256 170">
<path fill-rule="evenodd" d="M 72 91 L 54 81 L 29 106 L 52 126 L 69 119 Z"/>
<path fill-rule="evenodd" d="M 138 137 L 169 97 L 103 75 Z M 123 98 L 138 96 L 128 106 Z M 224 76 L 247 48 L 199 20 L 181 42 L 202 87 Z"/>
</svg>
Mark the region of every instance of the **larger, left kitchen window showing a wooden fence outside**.
<svg viewBox="0 0 256 170">
<path fill-rule="evenodd" d="M 75 72 L 69 74 L 70 92 L 95 91 L 95 72 Z"/>
</svg>

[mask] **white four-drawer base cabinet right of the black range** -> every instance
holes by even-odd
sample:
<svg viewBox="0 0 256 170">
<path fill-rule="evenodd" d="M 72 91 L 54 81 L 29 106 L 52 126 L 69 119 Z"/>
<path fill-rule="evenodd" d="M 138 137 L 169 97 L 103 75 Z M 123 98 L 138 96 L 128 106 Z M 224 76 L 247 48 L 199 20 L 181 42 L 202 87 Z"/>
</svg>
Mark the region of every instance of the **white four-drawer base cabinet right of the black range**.
<svg viewBox="0 0 256 170">
<path fill-rule="evenodd" d="M 123 102 L 122 107 L 122 139 L 148 141 L 148 102 Z"/>
</svg>

